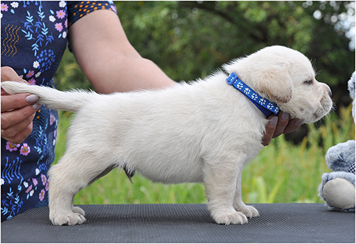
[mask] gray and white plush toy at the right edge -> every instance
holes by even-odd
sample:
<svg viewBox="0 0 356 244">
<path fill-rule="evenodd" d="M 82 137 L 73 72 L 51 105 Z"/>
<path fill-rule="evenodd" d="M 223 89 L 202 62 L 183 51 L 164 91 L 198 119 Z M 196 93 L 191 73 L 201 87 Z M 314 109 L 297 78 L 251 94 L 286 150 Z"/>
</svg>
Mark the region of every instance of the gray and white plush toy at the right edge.
<svg viewBox="0 0 356 244">
<path fill-rule="evenodd" d="M 355 121 L 355 73 L 348 81 Z M 326 165 L 333 172 L 321 177 L 319 197 L 333 211 L 355 212 L 355 141 L 339 143 L 327 150 Z"/>
</svg>

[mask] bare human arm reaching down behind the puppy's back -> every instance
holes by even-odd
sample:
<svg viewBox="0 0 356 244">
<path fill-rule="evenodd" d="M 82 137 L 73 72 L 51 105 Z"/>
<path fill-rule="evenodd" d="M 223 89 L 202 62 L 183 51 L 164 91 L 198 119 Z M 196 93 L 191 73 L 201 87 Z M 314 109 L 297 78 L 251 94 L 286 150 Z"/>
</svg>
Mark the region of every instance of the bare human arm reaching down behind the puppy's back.
<svg viewBox="0 0 356 244">
<path fill-rule="evenodd" d="M 95 91 L 157 89 L 174 82 L 142 58 L 127 40 L 115 13 L 98 10 L 70 26 L 70 46 Z"/>
</svg>

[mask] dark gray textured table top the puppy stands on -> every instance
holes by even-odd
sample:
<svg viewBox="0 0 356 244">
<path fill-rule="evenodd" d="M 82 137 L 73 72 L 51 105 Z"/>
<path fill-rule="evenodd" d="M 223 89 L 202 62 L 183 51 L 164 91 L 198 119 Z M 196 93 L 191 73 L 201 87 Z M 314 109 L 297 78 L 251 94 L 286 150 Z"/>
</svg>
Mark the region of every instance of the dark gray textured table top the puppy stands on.
<svg viewBox="0 0 356 244">
<path fill-rule="evenodd" d="M 48 208 L 1 223 L 1 243 L 355 243 L 355 213 L 324 204 L 253 204 L 248 224 L 215 224 L 205 204 L 82 205 L 84 224 L 53 226 Z"/>
</svg>

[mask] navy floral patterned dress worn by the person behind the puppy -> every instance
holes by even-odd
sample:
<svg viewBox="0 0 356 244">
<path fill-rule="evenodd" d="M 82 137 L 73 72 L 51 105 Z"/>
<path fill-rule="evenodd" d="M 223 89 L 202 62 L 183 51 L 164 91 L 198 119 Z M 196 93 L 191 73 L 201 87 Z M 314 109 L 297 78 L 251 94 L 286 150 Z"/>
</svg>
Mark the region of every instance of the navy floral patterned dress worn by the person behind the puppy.
<svg viewBox="0 0 356 244">
<path fill-rule="evenodd" d="M 67 46 L 68 26 L 112 1 L 1 1 L 1 66 L 31 85 L 52 86 Z M 1 222 L 47 206 L 47 171 L 54 161 L 58 114 L 44 105 L 21 144 L 1 138 Z"/>
</svg>

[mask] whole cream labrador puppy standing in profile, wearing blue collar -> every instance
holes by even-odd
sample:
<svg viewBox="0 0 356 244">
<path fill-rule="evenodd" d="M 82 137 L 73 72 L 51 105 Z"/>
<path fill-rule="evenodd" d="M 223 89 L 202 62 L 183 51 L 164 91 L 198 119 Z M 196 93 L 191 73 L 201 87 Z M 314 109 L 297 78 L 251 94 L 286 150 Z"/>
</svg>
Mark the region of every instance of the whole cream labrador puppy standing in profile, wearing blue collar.
<svg viewBox="0 0 356 244">
<path fill-rule="evenodd" d="M 74 196 L 116 167 L 162 183 L 203 182 L 218 224 L 258 216 L 241 200 L 241 174 L 263 147 L 265 113 L 278 112 L 278 105 L 291 118 L 314 123 L 330 112 L 331 92 L 316 81 L 309 59 L 287 47 L 266 47 L 224 70 L 233 73 L 228 82 L 219 71 L 191 84 L 110 95 L 2 82 L 7 93 L 33 93 L 42 104 L 77 112 L 65 155 L 49 170 L 52 223 L 82 224 Z"/>
</svg>

